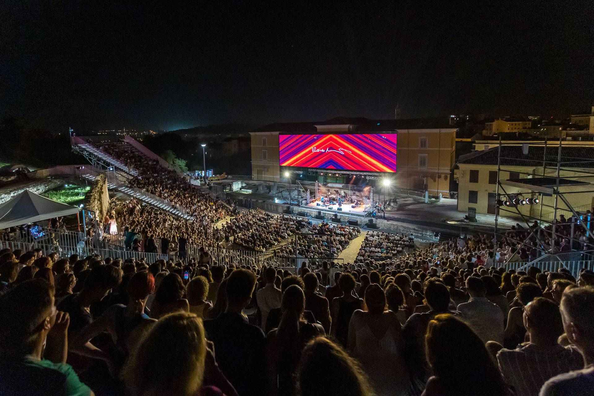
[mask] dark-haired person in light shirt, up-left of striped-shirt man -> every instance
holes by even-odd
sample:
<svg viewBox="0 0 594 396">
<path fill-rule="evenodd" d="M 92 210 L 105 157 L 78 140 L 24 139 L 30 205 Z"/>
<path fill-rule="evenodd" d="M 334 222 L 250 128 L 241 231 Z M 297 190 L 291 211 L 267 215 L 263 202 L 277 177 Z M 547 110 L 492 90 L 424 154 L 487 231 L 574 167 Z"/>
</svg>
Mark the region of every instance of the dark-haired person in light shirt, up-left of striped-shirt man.
<svg viewBox="0 0 594 396">
<path fill-rule="evenodd" d="M 485 284 L 481 278 L 468 277 L 466 291 L 470 300 L 458 306 L 463 320 L 484 343 L 496 341 L 503 344 L 503 331 L 505 330 L 503 312 L 485 297 Z"/>
</svg>

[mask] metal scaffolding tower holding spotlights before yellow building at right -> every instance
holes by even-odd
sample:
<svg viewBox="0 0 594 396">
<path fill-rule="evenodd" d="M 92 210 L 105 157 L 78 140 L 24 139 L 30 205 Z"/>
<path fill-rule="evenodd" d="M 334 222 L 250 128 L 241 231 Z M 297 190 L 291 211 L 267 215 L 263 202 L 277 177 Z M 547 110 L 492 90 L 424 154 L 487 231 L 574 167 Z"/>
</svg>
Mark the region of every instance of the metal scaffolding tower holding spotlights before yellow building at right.
<svg viewBox="0 0 594 396">
<path fill-rule="evenodd" d="M 518 147 L 517 144 L 509 144 L 509 146 L 516 147 L 516 150 Z M 572 199 L 567 195 L 594 193 L 594 172 L 592 172 L 594 171 L 594 158 L 571 156 L 571 153 L 564 155 L 564 148 L 565 153 L 570 150 L 567 145 L 564 147 L 561 138 L 555 145 L 549 145 L 547 140 L 545 140 L 544 146 L 522 145 L 522 153 L 525 158 L 505 157 L 505 147 L 506 145 L 501 143 L 500 136 L 497 148 L 494 246 L 497 247 L 498 240 L 514 240 L 519 243 L 517 251 L 522 246 L 527 246 L 529 249 L 536 249 L 540 252 L 540 257 L 535 261 L 540 261 L 544 256 L 547 256 L 552 261 L 559 261 L 563 264 L 567 255 L 561 254 L 557 243 L 559 239 L 562 241 L 567 239 L 570 246 L 568 253 L 573 252 L 575 256 L 579 252 L 581 259 L 585 259 L 584 255 L 591 256 L 594 252 L 592 232 L 594 230 L 594 215 L 590 212 L 592 205 L 588 205 L 587 211 L 583 208 L 576 210 Z M 576 151 L 573 147 L 571 150 Z M 529 150 L 541 149 L 542 160 L 539 159 L 538 166 L 535 166 L 537 161 L 530 159 L 527 154 Z M 534 169 L 532 172 L 519 172 L 517 166 L 530 166 Z M 538 169 L 540 167 L 542 169 Z M 507 172 L 516 173 L 519 178 L 504 177 L 508 175 Z M 510 188 L 513 188 L 514 191 Z M 571 191 L 567 191 L 568 188 L 571 188 Z M 549 201 L 548 204 L 545 204 L 545 199 Z M 552 211 L 544 216 L 544 208 L 552 209 Z M 501 229 L 500 216 L 503 214 L 500 212 L 520 217 L 519 224 L 525 223 L 526 228 L 531 230 L 529 237 L 525 240 L 514 239 L 513 233 Z M 560 223 L 560 216 L 565 217 L 565 214 L 568 216 L 567 221 Z M 552 215 L 551 218 L 548 217 L 550 215 Z M 532 223 L 530 223 L 531 221 Z M 569 232 L 567 232 L 568 228 Z M 576 238 L 576 232 L 579 229 L 583 229 L 582 234 L 587 237 L 586 240 Z"/>
</svg>

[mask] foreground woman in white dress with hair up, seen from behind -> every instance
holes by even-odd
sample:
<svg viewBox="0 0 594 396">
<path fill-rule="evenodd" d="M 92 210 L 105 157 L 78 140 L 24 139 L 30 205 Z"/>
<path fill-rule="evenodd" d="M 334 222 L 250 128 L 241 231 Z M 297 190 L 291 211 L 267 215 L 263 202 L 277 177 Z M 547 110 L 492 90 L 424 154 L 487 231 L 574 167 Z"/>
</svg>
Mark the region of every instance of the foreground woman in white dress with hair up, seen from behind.
<svg viewBox="0 0 594 396">
<path fill-rule="evenodd" d="M 386 294 L 378 284 L 365 290 L 367 311 L 353 312 L 349 324 L 349 350 L 361 362 L 378 396 L 404 396 L 410 377 L 404 357 L 402 326 L 396 313 L 387 311 Z"/>
</svg>

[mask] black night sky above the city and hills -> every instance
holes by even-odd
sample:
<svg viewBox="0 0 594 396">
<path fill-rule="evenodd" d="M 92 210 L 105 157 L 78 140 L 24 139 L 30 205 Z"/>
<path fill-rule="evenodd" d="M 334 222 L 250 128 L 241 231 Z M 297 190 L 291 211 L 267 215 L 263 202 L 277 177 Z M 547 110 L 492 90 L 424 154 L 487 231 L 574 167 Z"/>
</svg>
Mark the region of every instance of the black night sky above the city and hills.
<svg viewBox="0 0 594 396">
<path fill-rule="evenodd" d="M 0 5 L 0 117 L 45 128 L 568 115 L 594 104 L 592 1 Z"/>
</svg>

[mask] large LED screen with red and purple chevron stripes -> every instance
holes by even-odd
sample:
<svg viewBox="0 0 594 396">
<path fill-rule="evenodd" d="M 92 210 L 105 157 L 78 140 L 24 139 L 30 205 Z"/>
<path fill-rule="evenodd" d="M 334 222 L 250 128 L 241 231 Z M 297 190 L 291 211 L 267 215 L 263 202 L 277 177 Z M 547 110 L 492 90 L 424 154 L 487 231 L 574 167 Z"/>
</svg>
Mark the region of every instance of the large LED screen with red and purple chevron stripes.
<svg viewBox="0 0 594 396">
<path fill-rule="evenodd" d="M 280 164 L 396 172 L 396 134 L 279 135 Z"/>
</svg>

